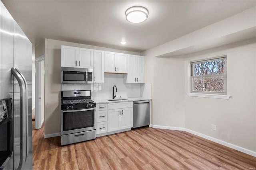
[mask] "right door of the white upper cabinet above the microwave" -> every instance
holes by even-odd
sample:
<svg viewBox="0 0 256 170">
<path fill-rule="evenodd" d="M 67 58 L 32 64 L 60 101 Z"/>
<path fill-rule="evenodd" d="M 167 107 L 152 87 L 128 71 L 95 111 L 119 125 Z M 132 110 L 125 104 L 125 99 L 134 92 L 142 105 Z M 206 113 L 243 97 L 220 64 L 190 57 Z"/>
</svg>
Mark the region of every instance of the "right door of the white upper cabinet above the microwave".
<svg viewBox="0 0 256 170">
<path fill-rule="evenodd" d="M 93 68 L 92 49 L 78 48 L 78 67 Z"/>
</svg>

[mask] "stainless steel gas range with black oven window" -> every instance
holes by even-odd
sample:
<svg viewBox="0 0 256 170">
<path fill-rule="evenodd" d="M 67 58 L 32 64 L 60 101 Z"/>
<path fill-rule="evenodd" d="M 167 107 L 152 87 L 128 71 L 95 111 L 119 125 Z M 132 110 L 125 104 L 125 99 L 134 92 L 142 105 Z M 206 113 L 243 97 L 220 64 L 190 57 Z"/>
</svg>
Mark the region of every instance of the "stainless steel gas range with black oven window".
<svg viewBox="0 0 256 170">
<path fill-rule="evenodd" d="M 91 90 L 61 92 L 61 145 L 96 138 L 96 103 Z"/>
</svg>

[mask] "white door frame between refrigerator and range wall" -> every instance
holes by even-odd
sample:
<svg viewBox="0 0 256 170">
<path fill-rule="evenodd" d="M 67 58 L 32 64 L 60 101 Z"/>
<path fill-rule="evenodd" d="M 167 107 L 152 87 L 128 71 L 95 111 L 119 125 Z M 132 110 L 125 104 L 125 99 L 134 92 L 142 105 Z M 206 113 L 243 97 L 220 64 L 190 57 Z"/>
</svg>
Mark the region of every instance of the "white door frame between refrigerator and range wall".
<svg viewBox="0 0 256 170">
<path fill-rule="evenodd" d="M 40 83 L 40 75 L 41 75 L 41 64 L 40 62 L 44 61 L 44 70 L 45 70 L 45 57 L 44 55 L 41 55 L 40 57 L 36 58 L 36 92 L 35 92 L 35 129 L 40 129 L 42 122 L 41 122 L 41 102 L 39 100 L 40 96 L 40 89 L 41 89 L 41 83 Z M 45 75 L 44 75 L 45 80 Z M 44 85 L 43 85 L 44 86 Z M 45 91 L 45 87 L 44 87 Z M 45 101 L 44 101 L 45 102 Z"/>
</svg>

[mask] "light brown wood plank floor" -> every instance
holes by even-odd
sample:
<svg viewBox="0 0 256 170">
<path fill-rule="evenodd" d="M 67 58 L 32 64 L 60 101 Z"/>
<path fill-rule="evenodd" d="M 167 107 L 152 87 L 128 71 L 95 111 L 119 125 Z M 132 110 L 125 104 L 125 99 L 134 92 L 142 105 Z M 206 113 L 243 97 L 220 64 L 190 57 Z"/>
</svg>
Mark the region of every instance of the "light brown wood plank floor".
<svg viewBox="0 0 256 170">
<path fill-rule="evenodd" d="M 44 139 L 44 126 L 33 130 L 33 169 L 250 168 L 256 157 L 184 131 L 147 127 L 61 147 L 60 137 Z"/>
</svg>

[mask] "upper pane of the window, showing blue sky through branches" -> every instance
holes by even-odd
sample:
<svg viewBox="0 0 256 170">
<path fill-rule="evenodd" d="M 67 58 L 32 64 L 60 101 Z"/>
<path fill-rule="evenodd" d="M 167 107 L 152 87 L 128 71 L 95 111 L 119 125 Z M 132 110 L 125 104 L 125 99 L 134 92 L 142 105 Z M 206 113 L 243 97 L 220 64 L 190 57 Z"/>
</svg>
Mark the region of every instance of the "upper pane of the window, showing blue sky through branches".
<svg viewBox="0 0 256 170">
<path fill-rule="evenodd" d="M 202 61 L 200 63 L 193 63 L 193 68 L 193 76 L 224 74 L 225 59 L 216 59 L 214 61 Z"/>
</svg>

